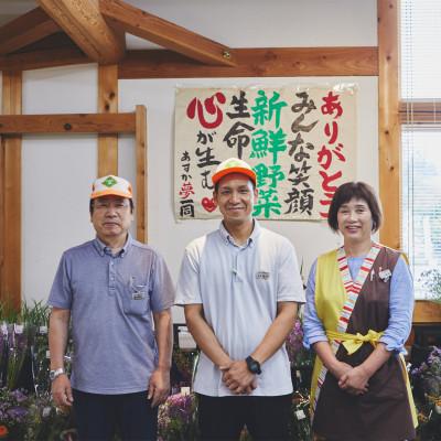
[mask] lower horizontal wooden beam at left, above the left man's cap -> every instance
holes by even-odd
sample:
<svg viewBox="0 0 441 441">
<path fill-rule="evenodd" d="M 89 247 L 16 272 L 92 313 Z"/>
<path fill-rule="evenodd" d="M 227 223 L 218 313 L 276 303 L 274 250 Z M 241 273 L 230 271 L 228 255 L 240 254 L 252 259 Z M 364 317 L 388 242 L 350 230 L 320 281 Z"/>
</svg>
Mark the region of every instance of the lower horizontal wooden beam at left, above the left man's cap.
<svg viewBox="0 0 441 441">
<path fill-rule="evenodd" d="M 135 114 L 67 114 L 0 116 L 0 135 L 133 133 Z"/>
</svg>

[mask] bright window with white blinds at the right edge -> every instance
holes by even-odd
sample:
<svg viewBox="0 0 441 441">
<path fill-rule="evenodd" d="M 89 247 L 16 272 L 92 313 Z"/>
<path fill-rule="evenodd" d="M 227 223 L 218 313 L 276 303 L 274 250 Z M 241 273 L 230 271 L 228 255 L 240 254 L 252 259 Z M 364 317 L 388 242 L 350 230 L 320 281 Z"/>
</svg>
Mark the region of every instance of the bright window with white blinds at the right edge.
<svg viewBox="0 0 441 441">
<path fill-rule="evenodd" d="M 427 298 L 441 270 L 441 1 L 401 0 L 401 246 Z"/>
</svg>

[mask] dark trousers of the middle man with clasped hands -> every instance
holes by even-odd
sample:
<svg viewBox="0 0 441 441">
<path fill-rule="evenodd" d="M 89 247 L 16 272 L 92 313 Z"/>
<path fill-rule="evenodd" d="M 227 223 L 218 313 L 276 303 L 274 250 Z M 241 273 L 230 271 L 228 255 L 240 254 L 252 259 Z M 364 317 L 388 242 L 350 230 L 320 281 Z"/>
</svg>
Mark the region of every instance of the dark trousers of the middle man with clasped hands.
<svg viewBox="0 0 441 441">
<path fill-rule="evenodd" d="M 200 395 L 201 439 L 238 440 L 244 426 L 254 440 L 289 440 L 291 394 L 279 397 Z"/>
</svg>

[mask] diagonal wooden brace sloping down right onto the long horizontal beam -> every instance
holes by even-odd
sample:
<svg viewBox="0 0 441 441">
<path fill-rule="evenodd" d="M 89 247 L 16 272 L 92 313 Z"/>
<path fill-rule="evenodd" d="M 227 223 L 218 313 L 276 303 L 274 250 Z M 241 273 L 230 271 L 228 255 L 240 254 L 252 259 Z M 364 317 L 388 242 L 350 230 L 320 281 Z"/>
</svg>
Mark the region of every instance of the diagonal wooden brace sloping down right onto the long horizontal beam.
<svg viewBox="0 0 441 441">
<path fill-rule="evenodd" d="M 234 66 L 234 51 L 185 28 L 135 8 L 121 0 L 99 0 L 99 10 L 126 32 L 149 40 L 201 63 Z"/>
</svg>

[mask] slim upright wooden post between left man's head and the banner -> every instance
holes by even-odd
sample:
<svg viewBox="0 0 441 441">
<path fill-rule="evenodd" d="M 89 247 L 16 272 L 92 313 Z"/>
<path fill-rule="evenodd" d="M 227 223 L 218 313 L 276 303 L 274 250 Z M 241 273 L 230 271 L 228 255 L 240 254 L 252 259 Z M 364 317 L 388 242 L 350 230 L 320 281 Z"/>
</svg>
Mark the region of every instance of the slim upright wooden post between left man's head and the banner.
<svg viewBox="0 0 441 441">
<path fill-rule="evenodd" d="M 136 155 L 137 155 L 137 239 L 148 240 L 148 154 L 147 154 L 147 110 L 144 106 L 136 107 Z"/>
</svg>

